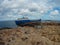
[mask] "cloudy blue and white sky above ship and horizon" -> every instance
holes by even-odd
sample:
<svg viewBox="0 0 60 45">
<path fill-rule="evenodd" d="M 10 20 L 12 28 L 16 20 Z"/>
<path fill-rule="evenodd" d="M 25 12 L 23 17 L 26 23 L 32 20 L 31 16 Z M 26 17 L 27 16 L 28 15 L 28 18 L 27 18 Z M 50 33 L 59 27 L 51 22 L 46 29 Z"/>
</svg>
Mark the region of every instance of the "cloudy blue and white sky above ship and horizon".
<svg viewBox="0 0 60 45">
<path fill-rule="evenodd" d="M 60 20 L 60 0 L 0 0 L 0 20 Z"/>
</svg>

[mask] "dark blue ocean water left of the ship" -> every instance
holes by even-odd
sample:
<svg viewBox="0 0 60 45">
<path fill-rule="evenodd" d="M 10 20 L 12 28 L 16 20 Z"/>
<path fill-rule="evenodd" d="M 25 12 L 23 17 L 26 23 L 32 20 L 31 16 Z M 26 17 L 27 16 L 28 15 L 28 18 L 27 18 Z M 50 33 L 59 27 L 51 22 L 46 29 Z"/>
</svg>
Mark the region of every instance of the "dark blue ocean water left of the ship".
<svg viewBox="0 0 60 45">
<path fill-rule="evenodd" d="M 0 21 L 0 28 L 16 28 L 15 21 Z"/>
</svg>

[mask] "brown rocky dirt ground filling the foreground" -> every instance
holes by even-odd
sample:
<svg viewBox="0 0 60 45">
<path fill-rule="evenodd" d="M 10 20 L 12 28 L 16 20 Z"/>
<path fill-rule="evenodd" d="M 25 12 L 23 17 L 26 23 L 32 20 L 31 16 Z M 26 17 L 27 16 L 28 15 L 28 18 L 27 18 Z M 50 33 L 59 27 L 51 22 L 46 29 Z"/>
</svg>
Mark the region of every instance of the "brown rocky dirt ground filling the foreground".
<svg viewBox="0 0 60 45">
<path fill-rule="evenodd" d="M 2 29 L 0 45 L 60 45 L 60 25 Z"/>
</svg>

